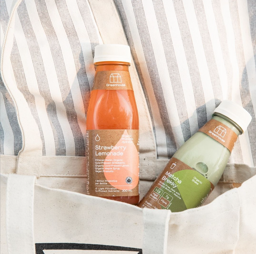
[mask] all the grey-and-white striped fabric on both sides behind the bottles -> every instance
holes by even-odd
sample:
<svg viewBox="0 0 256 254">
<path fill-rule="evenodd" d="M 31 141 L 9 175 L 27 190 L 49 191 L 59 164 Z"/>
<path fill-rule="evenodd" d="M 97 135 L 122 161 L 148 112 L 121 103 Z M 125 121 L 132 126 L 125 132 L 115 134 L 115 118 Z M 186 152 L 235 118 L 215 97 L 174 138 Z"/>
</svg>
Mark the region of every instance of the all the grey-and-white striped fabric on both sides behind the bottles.
<svg viewBox="0 0 256 254">
<path fill-rule="evenodd" d="M 12 81 L 7 86 L 0 80 L 1 154 L 17 156 L 26 148 L 17 110 L 23 105 L 43 156 L 85 156 L 94 47 L 103 43 L 88 1 L 0 1 L 1 46 L 18 5 L 10 29 L 10 74 L 1 73 Z M 113 3 L 144 91 L 159 161 L 171 158 L 228 99 L 252 115 L 230 163 L 256 166 L 255 0 Z"/>
</svg>

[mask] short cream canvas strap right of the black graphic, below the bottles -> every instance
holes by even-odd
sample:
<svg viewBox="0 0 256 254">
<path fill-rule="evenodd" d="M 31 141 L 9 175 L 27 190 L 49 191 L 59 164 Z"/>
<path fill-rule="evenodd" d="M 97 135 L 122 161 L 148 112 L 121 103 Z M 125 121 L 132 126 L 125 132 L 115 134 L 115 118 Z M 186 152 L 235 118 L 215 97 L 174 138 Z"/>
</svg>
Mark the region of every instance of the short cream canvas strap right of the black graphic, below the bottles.
<svg viewBox="0 0 256 254">
<path fill-rule="evenodd" d="M 143 209 L 143 254 L 165 254 L 170 210 Z"/>
</svg>

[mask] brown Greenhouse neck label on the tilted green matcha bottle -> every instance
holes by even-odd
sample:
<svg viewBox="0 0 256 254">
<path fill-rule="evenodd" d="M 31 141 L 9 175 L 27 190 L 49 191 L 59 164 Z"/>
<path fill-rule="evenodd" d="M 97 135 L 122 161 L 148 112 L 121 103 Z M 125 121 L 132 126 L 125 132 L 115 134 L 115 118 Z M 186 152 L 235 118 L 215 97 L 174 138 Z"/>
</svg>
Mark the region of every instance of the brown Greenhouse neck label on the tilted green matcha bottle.
<svg viewBox="0 0 256 254">
<path fill-rule="evenodd" d="M 235 132 L 231 130 L 228 126 L 222 124 L 215 119 L 211 119 L 210 121 L 208 121 L 198 131 L 207 134 L 209 137 L 221 143 L 224 147 L 229 149 L 230 153 L 232 152 L 232 149 L 238 137 L 238 135 L 235 134 Z"/>
</svg>

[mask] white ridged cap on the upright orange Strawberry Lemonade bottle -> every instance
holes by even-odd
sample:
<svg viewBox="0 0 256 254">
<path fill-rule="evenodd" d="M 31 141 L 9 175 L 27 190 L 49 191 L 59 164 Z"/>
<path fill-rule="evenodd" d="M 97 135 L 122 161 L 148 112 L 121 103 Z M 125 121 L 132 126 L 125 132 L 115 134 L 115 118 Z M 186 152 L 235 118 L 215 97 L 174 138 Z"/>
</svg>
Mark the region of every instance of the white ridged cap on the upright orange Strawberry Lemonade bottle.
<svg viewBox="0 0 256 254">
<path fill-rule="evenodd" d="M 96 46 L 93 63 L 105 61 L 131 63 L 130 47 L 122 44 L 102 44 Z"/>
</svg>

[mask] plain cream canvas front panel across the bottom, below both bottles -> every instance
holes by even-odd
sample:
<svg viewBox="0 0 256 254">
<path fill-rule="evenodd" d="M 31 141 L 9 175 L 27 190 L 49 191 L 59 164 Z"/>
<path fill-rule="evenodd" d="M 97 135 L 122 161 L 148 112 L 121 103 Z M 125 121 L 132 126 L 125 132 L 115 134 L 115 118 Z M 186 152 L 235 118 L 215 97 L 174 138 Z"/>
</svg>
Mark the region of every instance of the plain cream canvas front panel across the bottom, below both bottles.
<svg viewBox="0 0 256 254">
<path fill-rule="evenodd" d="M 34 186 L 33 176 L 1 176 L 1 253 L 254 253 L 255 181 L 171 213 Z"/>
</svg>

